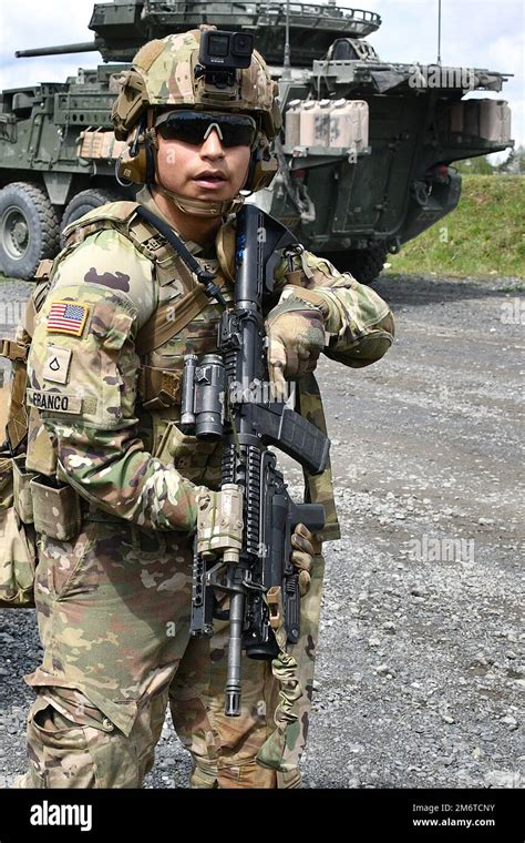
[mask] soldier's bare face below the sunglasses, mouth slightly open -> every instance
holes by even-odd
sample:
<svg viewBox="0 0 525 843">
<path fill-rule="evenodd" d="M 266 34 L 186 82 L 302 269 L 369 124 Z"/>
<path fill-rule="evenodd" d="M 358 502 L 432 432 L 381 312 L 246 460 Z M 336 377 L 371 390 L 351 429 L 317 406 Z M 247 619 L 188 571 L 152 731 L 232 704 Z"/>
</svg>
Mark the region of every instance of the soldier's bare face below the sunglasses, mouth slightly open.
<svg viewBox="0 0 525 843">
<path fill-rule="evenodd" d="M 246 182 L 250 149 L 223 146 L 213 129 L 202 144 L 158 135 L 158 176 L 168 191 L 186 199 L 233 199 Z"/>
</svg>

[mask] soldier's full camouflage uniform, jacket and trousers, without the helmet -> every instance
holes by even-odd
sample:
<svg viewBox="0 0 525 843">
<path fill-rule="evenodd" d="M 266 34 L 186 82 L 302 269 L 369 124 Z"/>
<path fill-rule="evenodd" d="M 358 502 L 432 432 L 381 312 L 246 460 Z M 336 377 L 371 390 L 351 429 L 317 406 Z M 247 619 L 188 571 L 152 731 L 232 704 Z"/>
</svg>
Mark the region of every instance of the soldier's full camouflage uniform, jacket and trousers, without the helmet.
<svg viewBox="0 0 525 843">
<path fill-rule="evenodd" d="M 162 216 L 147 189 L 137 200 Z M 168 703 L 193 756 L 193 786 L 299 786 L 321 540 L 339 536 L 330 469 L 306 476 L 307 499 L 323 502 L 328 518 L 301 601 L 301 639 L 289 648 L 302 689 L 298 720 L 276 728 L 280 689 L 271 666 L 246 658 L 241 715 L 226 718 L 228 624 L 217 622 L 210 639 L 189 639 L 188 631 L 196 496 L 220 487 L 222 444 L 197 445 L 176 425 L 183 356 L 217 351 L 222 308 L 207 304 L 179 335 L 137 353 L 152 314 L 165 302 L 176 314 L 195 280 L 135 209 L 114 203 L 76 224 L 55 262 L 28 360 L 27 468 L 63 484 L 60 494 L 74 498 L 68 506 L 78 529 L 64 531 L 50 481 L 44 496 L 59 524 L 41 535 L 35 603 L 44 659 L 27 677 L 38 695 L 28 719 L 30 768 L 20 786 L 140 786 Z M 209 250 L 186 243 L 218 271 L 229 302 L 222 235 L 231 225 L 223 225 Z M 289 270 L 282 260 L 267 313 Z M 384 354 L 393 322 L 373 291 L 308 252 L 294 257 L 292 275 L 298 293 L 322 288 L 329 302 L 328 356 L 358 367 Z M 322 428 L 313 375 L 300 380 L 298 402 Z"/>
</svg>

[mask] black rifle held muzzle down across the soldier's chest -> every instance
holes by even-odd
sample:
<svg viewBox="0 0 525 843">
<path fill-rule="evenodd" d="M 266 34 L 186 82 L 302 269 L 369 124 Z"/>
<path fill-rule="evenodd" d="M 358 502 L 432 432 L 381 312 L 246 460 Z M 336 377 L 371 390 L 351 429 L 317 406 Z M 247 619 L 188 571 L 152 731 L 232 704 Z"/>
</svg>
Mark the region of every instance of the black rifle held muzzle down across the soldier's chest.
<svg viewBox="0 0 525 843">
<path fill-rule="evenodd" d="M 299 576 L 290 561 L 291 535 L 302 522 L 325 524 L 318 504 L 295 504 L 277 468 L 275 445 L 311 474 L 323 470 L 329 439 L 268 385 L 262 295 L 272 292 L 278 251 L 297 245 L 284 225 L 255 205 L 237 216 L 234 307 L 218 326 L 219 354 L 186 355 L 181 427 L 197 439 L 224 438 L 220 511 L 199 504 L 194 547 L 191 633 L 212 636 L 213 619 L 229 619 L 225 713 L 240 714 L 241 650 L 251 659 L 279 652 L 300 636 Z M 236 385 L 248 389 L 235 389 Z M 212 522 L 213 521 L 213 522 Z M 219 596 L 229 595 L 229 609 Z"/>
</svg>

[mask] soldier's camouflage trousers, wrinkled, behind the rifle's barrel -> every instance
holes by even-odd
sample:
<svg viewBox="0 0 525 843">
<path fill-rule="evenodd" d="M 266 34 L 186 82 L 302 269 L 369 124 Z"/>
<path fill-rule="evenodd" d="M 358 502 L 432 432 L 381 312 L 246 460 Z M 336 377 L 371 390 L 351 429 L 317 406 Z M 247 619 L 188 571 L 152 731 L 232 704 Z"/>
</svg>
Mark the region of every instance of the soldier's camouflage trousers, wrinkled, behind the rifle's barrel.
<svg viewBox="0 0 525 843">
<path fill-rule="evenodd" d="M 184 534 L 87 521 L 72 544 L 42 537 L 35 602 L 44 658 L 25 677 L 37 699 L 30 765 L 16 786 L 140 788 L 168 705 L 193 758 L 193 788 L 300 786 L 322 556 L 302 598 L 301 639 L 290 648 L 303 692 L 287 773 L 256 762 L 275 730 L 271 664 L 244 656 L 241 715 L 226 718 L 228 623 L 216 621 L 210 639 L 189 637 L 191 571 Z"/>
</svg>

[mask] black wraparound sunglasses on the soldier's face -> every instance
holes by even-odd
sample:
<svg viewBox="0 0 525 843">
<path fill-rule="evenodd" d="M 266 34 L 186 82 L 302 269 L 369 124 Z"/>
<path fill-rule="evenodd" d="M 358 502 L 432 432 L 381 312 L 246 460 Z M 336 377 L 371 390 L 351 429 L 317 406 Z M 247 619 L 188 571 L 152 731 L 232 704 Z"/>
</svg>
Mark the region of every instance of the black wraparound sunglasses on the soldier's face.
<svg viewBox="0 0 525 843">
<path fill-rule="evenodd" d="M 200 146 L 215 129 L 223 146 L 251 146 L 257 123 L 247 114 L 212 114 L 200 111 L 169 111 L 161 114 L 155 128 L 165 141 L 183 141 Z"/>
</svg>

